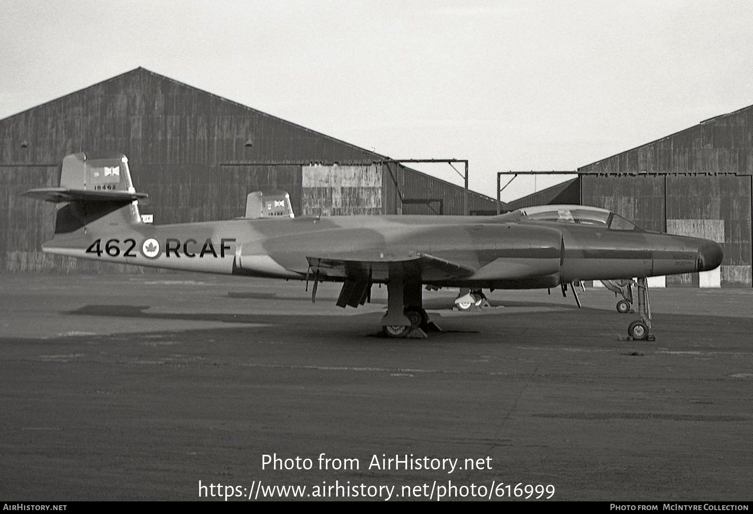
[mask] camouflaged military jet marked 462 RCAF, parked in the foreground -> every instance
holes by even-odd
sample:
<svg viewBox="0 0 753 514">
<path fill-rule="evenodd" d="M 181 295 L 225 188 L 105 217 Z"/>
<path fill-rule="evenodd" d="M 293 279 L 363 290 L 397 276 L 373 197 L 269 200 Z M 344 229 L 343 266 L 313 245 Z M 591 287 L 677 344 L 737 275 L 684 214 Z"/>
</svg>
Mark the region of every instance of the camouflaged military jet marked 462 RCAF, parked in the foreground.
<svg viewBox="0 0 753 514">
<path fill-rule="evenodd" d="M 50 254 L 267 278 L 342 282 L 337 305 L 363 305 L 386 284 L 383 332 L 425 336 L 422 287 L 531 289 L 638 277 L 641 319 L 628 335 L 651 337 L 646 278 L 715 269 L 715 242 L 642 230 L 614 212 L 541 205 L 491 217 L 294 217 L 285 193 L 249 195 L 246 217 L 153 225 L 139 213 L 144 193 L 122 154 L 72 154 L 59 187 L 24 193 L 62 203 Z M 575 287 L 572 287 L 575 292 Z"/>
</svg>

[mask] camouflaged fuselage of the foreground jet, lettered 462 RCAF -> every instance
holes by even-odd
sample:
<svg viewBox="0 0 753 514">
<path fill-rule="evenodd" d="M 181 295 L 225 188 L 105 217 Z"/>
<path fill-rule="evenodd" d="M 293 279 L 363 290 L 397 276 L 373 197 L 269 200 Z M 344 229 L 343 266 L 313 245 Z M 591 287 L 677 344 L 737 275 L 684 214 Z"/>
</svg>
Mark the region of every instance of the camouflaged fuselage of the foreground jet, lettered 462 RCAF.
<svg viewBox="0 0 753 514">
<path fill-rule="evenodd" d="M 112 218 L 112 217 L 111 217 Z M 56 234 L 44 251 L 185 271 L 306 278 L 328 257 L 370 263 L 370 280 L 386 282 L 389 263 L 415 254 L 472 269 L 463 278 L 423 270 L 421 281 L 457 287 L 554 287 L 578 280 L 652 276 L 713 269 L 721 248 L 706 239 L 609 230 L 606 226 L 499 217 L 335 216 L 131 224 L 108 219 L 69 238 Z M 343 257 L 344 256 L 344 257 Z M 341 267 L 341 266 L 340 266 Z M 321 266 L 340 281 L 346 269 Z"/>
</svg>

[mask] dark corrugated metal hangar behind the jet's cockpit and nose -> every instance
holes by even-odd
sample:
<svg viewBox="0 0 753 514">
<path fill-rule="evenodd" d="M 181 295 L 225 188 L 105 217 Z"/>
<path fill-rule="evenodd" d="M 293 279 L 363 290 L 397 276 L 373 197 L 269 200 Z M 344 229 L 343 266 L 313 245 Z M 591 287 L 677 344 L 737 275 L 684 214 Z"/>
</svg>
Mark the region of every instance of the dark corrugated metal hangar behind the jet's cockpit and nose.
<svg viewBox="0 0 753 514">
<path fill-rule="evenodd" d="M 582 166 L 577 173 L 578 178 L 507 208 L 595 205 L 646 230 L 712 239 L 724 248 L 721 266 L 707 275 L 669 275 L 666 285 L 753 285 L 753 105 Z"/>
</svg>

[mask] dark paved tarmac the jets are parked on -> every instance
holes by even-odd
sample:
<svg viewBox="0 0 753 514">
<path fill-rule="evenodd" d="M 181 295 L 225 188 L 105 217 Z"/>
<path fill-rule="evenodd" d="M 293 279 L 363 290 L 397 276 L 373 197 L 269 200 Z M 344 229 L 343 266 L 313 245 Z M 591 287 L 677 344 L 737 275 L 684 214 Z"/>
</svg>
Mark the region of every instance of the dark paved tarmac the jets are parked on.
<svg viewBox="0 0 753 514">
<path fill-rule="evenodd" d="M 583 309 L 495 291 L 480 313 L 425 291 L 445 331 L 386 339 L 385 288 L 340 309 L 337 284 L 311 303 L 298 281 L 0 284 L 2 500 L 753 497 L 753 289 L 652 290 L 657 340 L 639 342 L 601 289 Z"/>
</svg>

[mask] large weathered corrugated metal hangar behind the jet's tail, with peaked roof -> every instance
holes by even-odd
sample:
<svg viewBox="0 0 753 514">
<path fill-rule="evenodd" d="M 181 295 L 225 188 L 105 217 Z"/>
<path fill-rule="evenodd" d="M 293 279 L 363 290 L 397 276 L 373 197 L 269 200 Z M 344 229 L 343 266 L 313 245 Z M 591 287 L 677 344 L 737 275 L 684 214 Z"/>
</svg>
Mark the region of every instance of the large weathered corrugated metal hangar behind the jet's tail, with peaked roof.
<svg viewBox="0 0 753 514">
<path fill-rule="evenodd" d="M 80 151 L 126 154 L 159 224 L 241 216 L 264 187 L 287 190 L 296 214 L 465 211 L 462 187 L 136 68 L 0 120 L 0 270 L 119 269 L 42 254 L 54 206 L 20 196 L 56 186 L 62 157 Z M 470 214 L 495 208 L 468 193 Z"/>
</svg>

